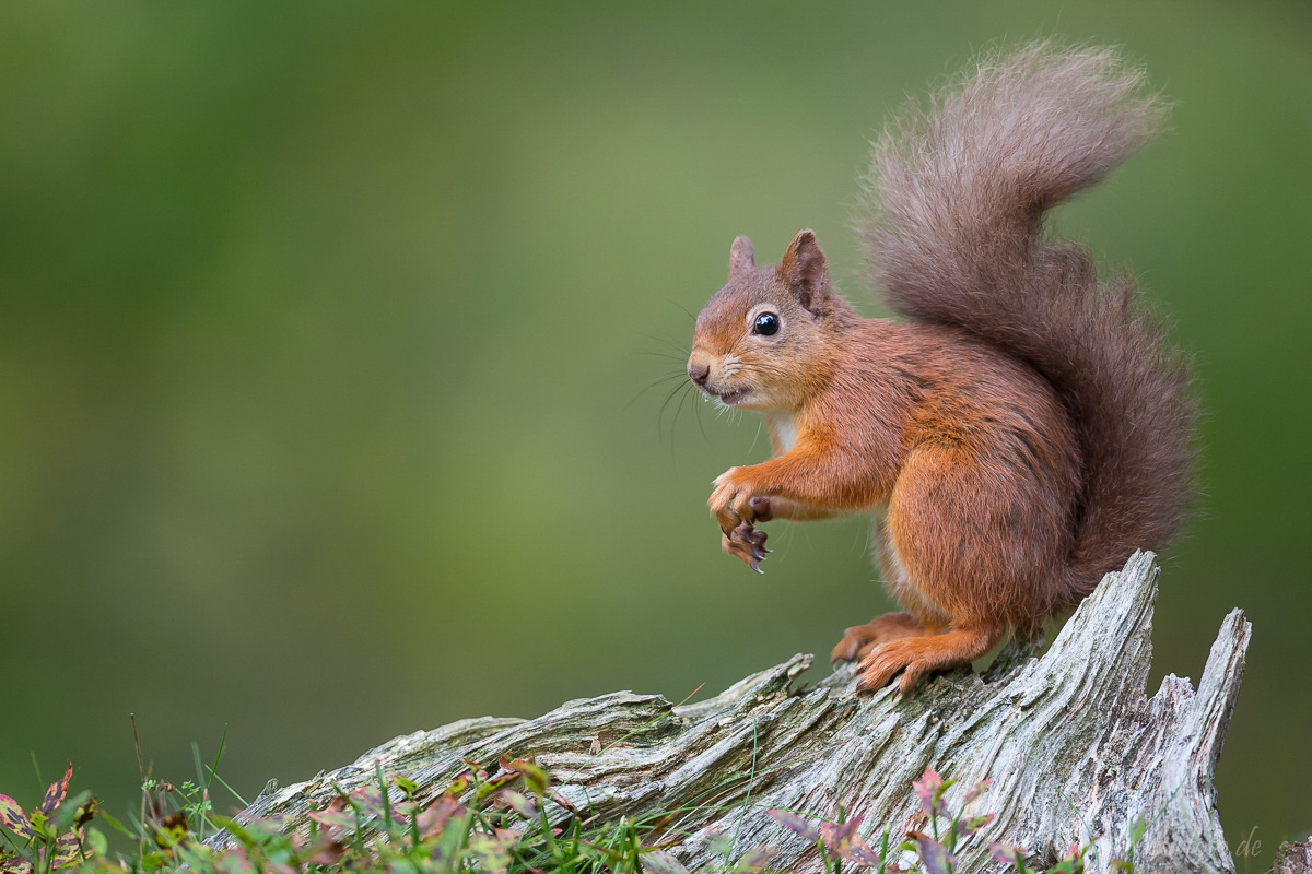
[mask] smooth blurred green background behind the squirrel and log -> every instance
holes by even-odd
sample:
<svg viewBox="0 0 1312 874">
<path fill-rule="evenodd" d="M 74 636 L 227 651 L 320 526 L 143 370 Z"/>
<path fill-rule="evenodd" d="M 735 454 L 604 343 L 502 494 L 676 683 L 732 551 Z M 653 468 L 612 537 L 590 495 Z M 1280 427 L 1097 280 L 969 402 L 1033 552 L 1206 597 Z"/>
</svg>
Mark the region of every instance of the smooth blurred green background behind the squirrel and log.
<svg viewBox="0 0 1312 874">
<path fill-rule="evenodd" d="M 174 781 L 227 726 L 253 795 L 462 717 L 827 653 L 890 607 L 865 524 L 777 528 L 748 573 L 705 499 L 762 457 L 754 421 L 657 428 L 640 390 L 737 233 L 775 259 L 816 228 L 875 312 L 869 138 L 977 48 L 1061 33 L 1177 104 L 1059 227 L 1197 354 L 1207 494 L 1151 691 L 1248 611 L 1218 786 L 1269 853 L 1312 827 L 1309 9 L 5 4 L 0 789 L 72 759 L 126 811 L 130 712 Z"/>
</svg>

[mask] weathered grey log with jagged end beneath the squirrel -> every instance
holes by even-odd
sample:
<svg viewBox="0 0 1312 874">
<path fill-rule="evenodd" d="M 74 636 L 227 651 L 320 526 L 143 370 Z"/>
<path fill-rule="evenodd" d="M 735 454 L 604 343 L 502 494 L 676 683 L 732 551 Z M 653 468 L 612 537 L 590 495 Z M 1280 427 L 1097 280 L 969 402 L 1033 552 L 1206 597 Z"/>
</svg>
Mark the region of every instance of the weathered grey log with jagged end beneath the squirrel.
<svg viewBox="0 0 1312 874">
<path fill-rule="evenodd" d="M 911 793 L 926 767 L 966 786 L 993 785 L 972 810 L 994 812 L 958 853 L 958 870 L 1002 865 L 988 840 L 1023 848 L 1051 865 L 1072 844 L 1096 839 L 1089 870 L 1109 871 L 1130 849 L 1131 826 L 1147 829 L 1134 850 L 1140 871 L 1233 871 L 1216 816 L 1212 772 L 1239 694 L 1250 625 L 1235 609 L 1221 622 L 1195 692 L 1166 676 L 1148 698 L 1151 629 L 1158 569 L 1138 553 L 1109 574 L 1043 655 L 1012 642 L 983 674 L 956 671 L 907 697 L 854 693 L 850 667 L 806 688 L 812 660 L 796 655 L 707 701 L 673 706 L 661 696 L 617 692 L 569 701 L 543 717 L 464 719 L 396 738 L 354 764 L 294 786 L 270 786 L 243 816 L 282 815 L 291 827 L 338 790 L 375 781 L 375 763 L 432 799 L 464 769 L 534 755 L 576 807 L 604 818 L 682 810 L 663 840 L 690 869 L 711 861 L 712 835 L 774 848 L 773 867 L 821 870 L 813 843 L 766 811 L 789 808 L 863 816 L 900 837 L 925 828 Z M 564 808 L 552 812 L 565 816 Z M 223 845 L 224 835 L 215 839 Z"/>
</svg>

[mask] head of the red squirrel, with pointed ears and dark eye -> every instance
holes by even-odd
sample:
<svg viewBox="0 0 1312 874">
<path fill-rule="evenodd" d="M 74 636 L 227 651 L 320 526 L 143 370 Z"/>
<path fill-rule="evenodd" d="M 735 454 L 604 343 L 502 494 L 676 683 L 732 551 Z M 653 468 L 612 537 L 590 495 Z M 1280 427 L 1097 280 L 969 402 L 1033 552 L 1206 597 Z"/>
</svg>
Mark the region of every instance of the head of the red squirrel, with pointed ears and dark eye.
<svg viewBox="0 0 1312 874">
<path fill-rule="evenodd" d="M 816 235 L 799 231 L 778 266 L 757 267 L 752 241 L 729 249 L 729 280 L 697 317 L 687 375 L 726 406 L 791 411 L 832 372 L 851 317 L 829 283 Z"/>
</svg>

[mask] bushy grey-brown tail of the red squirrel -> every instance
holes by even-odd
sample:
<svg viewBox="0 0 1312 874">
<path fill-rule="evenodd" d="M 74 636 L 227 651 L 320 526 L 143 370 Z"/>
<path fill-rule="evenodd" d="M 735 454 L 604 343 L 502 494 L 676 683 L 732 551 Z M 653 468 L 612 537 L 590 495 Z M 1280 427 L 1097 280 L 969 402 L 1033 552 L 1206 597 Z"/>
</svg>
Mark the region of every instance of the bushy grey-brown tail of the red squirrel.
<svg viewBox="0 0 1312 874">
<path fill-rule="evenodd" d="M 859 231 L 888 305 L 1027 362 L 1071 413 L 1084 465 L 1071 603 L 1134 549 L 1162 546 L 1193 498 L 1186 362 L 1131 276 L 1099 283 L 1089 252 L 1043 227 L 1161 119 L 1114 52 L 1035 43 L 897 119 L 866 185 Z"/>
</svg>

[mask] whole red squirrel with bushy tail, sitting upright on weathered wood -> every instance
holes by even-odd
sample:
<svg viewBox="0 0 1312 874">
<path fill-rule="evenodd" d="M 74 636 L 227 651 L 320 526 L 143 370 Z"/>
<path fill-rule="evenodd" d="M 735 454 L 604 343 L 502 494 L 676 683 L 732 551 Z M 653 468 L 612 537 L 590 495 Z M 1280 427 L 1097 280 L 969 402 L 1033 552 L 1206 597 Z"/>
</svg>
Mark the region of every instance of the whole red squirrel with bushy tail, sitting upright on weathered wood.
<svg viewBox="0 0 1312 874">
<path fill-rule="evenodd" d="M 863 318 L 811 231 L 777 266 L 737 237 L 687 375 L 762 414 L 774 457 L 714 481 L 724 552 L 756 525 L 874 518 L 904 612 L 846 629 L 858 689 L 1031 637 L 1193 499 L 1189 366 L 1130 275 L 1099 282 L 1044 214 L 1157 131 L 1161 102 L 1111 50 L 1033 43 L 980 60 L 874 144 L 857 229 L 867 279 L 909 321 Z"/>
</svg>

